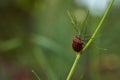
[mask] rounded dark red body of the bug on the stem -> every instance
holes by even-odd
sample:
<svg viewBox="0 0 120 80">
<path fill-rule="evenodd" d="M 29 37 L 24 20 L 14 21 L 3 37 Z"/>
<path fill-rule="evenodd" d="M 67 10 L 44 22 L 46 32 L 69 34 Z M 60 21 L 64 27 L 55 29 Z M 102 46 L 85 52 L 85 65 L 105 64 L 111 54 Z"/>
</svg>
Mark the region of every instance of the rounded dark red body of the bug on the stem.
<svg viewBox="0 0 120 80">
<path fill-rule="evenodd" d="M 72 48 L 75 52 L 80 52 L 83 49 L 83 40 L 80 36 L 76 36 L 73 39 Z"/>
</svg>

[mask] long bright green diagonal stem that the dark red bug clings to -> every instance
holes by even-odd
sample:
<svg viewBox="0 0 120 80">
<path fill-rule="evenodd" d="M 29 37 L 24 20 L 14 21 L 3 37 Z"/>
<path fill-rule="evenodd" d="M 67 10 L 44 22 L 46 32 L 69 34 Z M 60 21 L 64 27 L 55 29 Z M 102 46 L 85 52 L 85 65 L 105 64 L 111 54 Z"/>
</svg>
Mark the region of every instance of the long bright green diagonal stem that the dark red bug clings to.
<svg viewBox="0 0 120 80">
<path fill-rule="evenodd" d="M 84 52 L 84 51 L 88 48 L 88 46 L 91 44 L 91 42 L 94 40 L 96 33 L 98 32 L 98 30 L 99 30 L 100 27 L 102 26 L 102 23 L 103 23 L 103 21 L 105 20 L 106 16 L 108 15 L 108 13 L 109 13 L 109 11 L 110 11 L 113 3 L 114 3 L 114 0 L 112 0 L 111 3 L 109 4 L 109 6 L 107 7 L 107 9 L 106 9 L 106 11 L 105 11 L 105 13 L 104 13 L 104 15 L 103 15 L 100 23 L 98 24 L 95 32 L 92 34 L 92 36 L 91 36 L 90 40 L 88 41 L 88 43 L 87 43 L 87 44 L 85 45 L 85 47 L 83 48 L 82 52 Z M 70 80 L 70 78 L 72 77 L 72 74 L 73 74 L 73 72 L 74 72 L 74 70 L 75 70 L 75 67 L 76 67 L 76 65 L 77 65 L 77 63 L 78 63 L 78 61 L 79 61 L 79 59 L 80 59 L 80 54 L 81 54 L 81 53 L 79 53 L 79 54 L 76 55 L 76 59 L 75 59 L 73 65 L 72 65 L 72 68 L 71 68 L 71 70 L 70 70 L 70 72 L 69 72 L 66 80 Z"/>
</svg>

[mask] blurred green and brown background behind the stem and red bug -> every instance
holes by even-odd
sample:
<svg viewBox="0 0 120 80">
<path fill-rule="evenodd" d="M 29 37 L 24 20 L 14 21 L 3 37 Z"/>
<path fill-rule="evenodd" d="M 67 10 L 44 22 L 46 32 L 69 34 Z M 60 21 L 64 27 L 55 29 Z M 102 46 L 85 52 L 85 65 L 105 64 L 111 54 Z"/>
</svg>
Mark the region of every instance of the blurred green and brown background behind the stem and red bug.
<svg viewBox="0 0 120 80">
<path fill-rule="evenodd" d="M 111 0 L 0 0 L 0 80 L 65 80 L 75 59 L 75 31 L 66 10 L 87 34 Z M 71 80 L 120 80 L 120 1 L 116 0 Z M 107 50 L 104 50 L 107 49 Z"/>
</svg>

